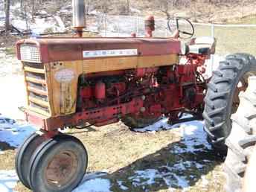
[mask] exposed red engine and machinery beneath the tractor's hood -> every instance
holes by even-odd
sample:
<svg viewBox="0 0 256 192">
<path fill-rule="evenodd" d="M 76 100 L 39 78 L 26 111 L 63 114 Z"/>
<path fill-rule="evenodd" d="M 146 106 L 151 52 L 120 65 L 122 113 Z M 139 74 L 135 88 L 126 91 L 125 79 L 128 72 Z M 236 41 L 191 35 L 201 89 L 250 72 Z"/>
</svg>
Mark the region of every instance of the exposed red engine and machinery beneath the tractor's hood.
<svg viewBox="0 0 256 192">
<path fill-rule="evenodd" d="M 199 108 L 204 89 L 205 82 L 200 80 L 196 65 L 83 74 L 78 80 L 77 112 L 129 103 L 134 97 L 141 97 L 144 105 L 138 116 L 175 115 L 173 109 L 182 112 L 185 108 Z"/>
</svg>

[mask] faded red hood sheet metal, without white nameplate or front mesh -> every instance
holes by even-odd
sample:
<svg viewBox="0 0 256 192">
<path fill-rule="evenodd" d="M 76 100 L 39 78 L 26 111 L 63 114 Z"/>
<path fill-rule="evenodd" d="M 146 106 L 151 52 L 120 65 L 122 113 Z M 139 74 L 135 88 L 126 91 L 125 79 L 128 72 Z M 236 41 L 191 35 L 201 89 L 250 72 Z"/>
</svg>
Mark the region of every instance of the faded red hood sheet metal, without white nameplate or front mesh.
<svg viewBox="0 0 256 192">
<path fill-rule="evenodd" d="M 138 57 L 163 54 L 179 54 L 180 42 L 166 38 L 39 38 L 17 42 L 17 57 L 22 44 L 40 48 L 42 63 L 68 60 L 86 60 L 83 51 L 137 49 Z M 129 56 L 127 56 L 129 57 Z"/>
</svg>

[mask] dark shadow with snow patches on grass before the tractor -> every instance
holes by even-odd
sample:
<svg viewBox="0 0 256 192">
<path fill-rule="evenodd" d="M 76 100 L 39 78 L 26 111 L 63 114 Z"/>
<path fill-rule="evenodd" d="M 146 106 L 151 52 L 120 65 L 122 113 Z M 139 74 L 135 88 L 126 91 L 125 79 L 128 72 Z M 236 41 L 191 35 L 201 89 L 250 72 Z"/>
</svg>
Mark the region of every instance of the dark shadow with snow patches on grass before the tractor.
<svg viewBox="0 0 256 192">
<path fill-rule="evenodd" d="M 181 142 L 169 144 L 109 174 L 112 191 L 122 191 L 122 186 L 134 192 L 187 188 L 223 161 L 213 150 L 175 153 L 177 147 L 185 148 Z"/>
</svg>

